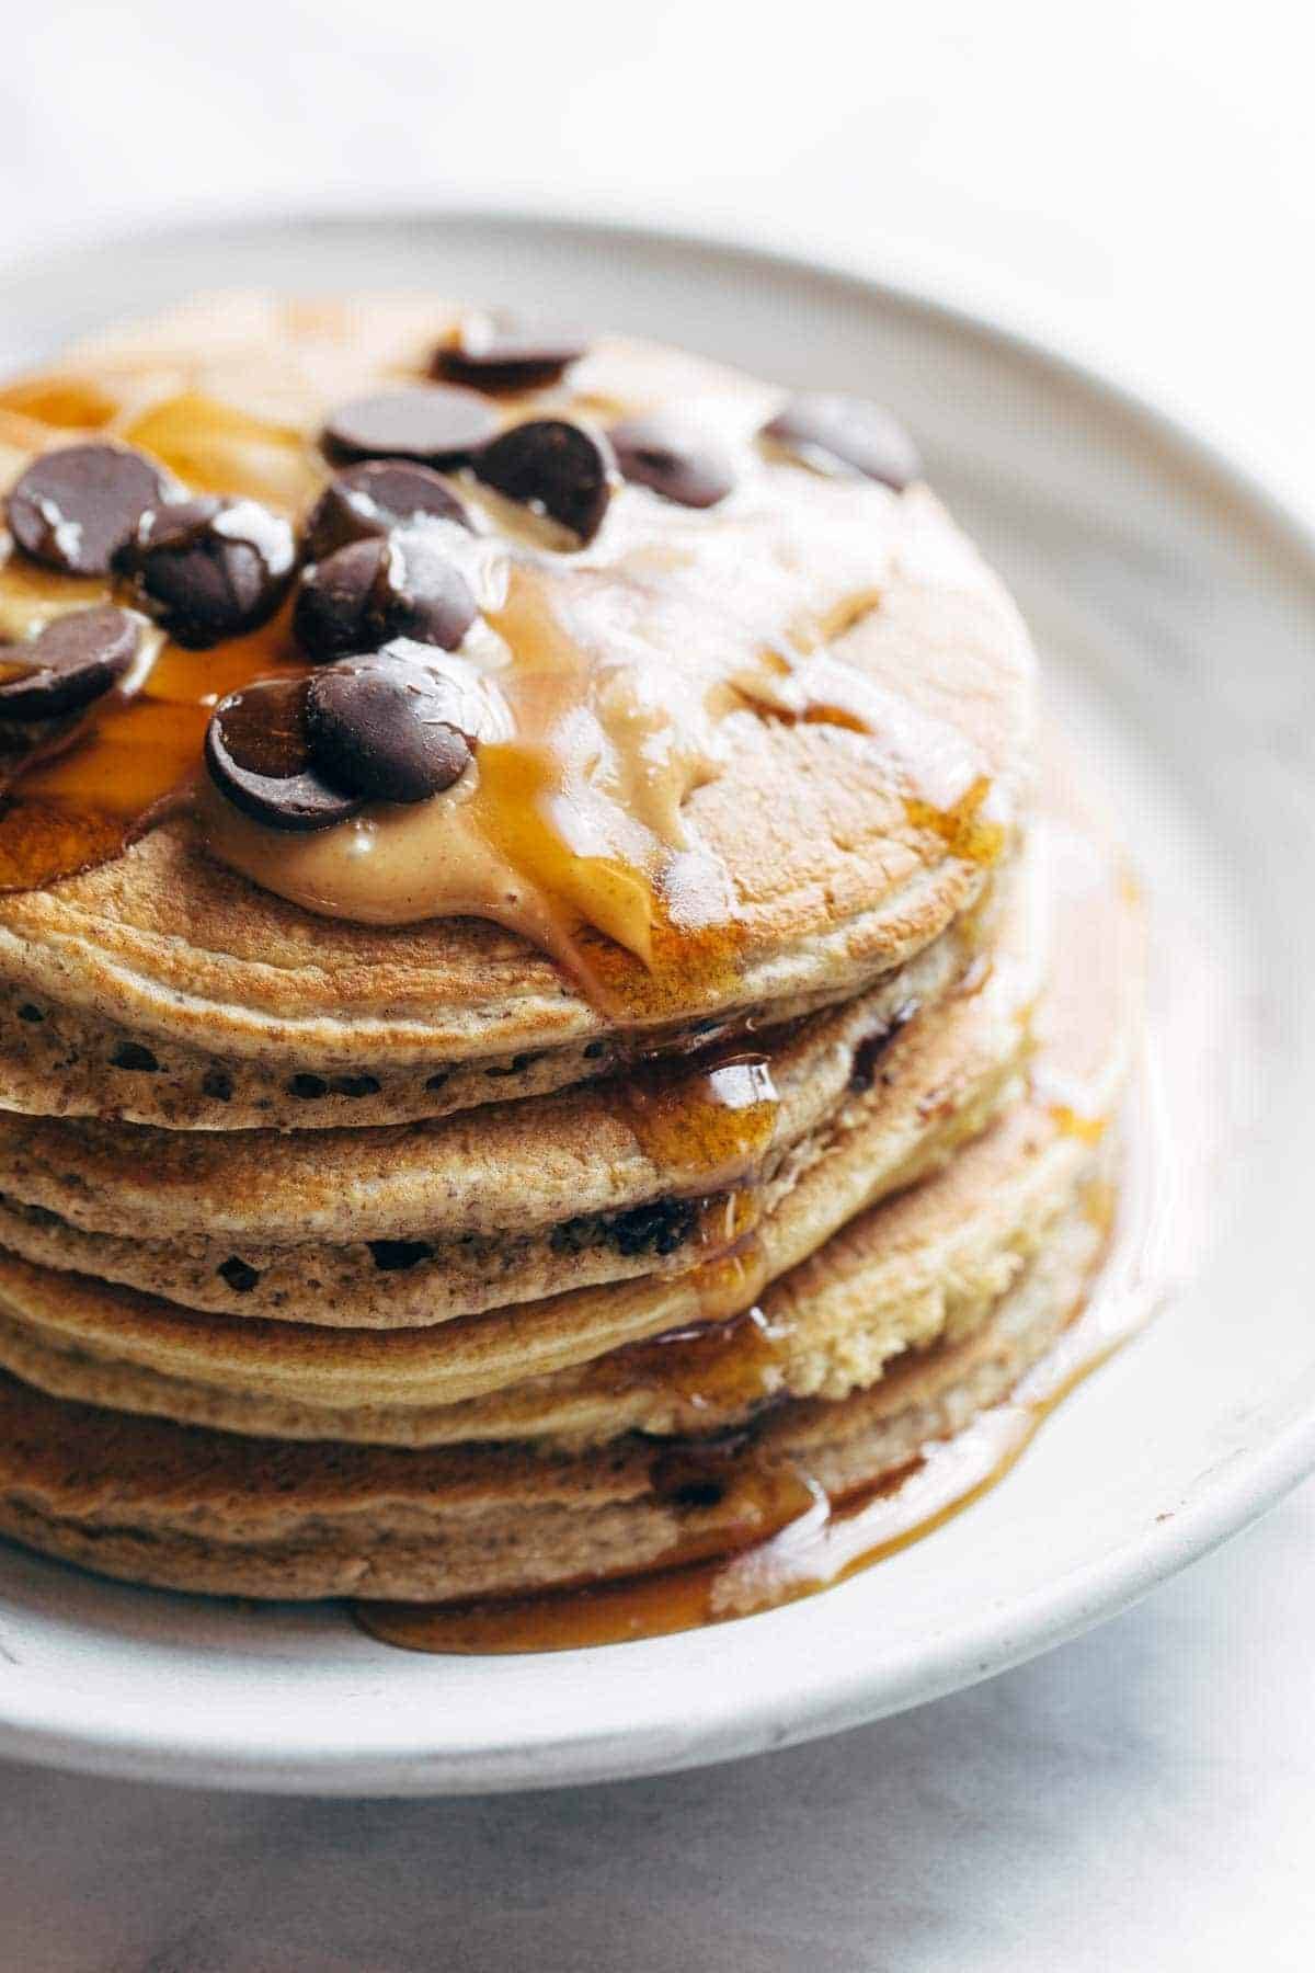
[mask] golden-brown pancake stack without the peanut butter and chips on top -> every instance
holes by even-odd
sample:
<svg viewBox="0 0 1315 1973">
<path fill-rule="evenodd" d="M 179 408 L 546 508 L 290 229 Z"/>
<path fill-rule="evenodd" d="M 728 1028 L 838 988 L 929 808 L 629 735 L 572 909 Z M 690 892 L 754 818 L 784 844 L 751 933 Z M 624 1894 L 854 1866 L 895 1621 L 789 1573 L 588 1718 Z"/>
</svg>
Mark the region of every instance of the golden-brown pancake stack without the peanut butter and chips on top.
<svg viewBox="0 0 1315 1973">
<path fill-rule="evenodd" d="M 237 489 L 296 511 L 325 406 L 436 314 L 237 300 L 69 391 L 242 406 Z M 524 404 L 731 389 L 617 343 Z M 18 464 L 79 436 L 24 391 Z M 834 649 L 970 777 L 936 805 L 745 702 L 688 801 L 733 913 L 643 963 L 586 927 L 605 994 L 489 921 L 310 912 L 191 813 L 0 898 L 2 1531 L 252 1596 L 655 1571 L 771 1533 L 783 1476 L 877 1484 L 1049 1348 L 1108 1227 L 1136 913 L 1011 604 L 923 485 L 889 505 Z"/>
</svg>

